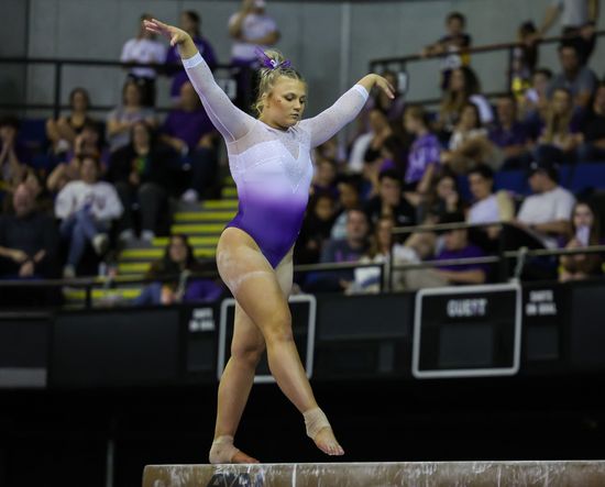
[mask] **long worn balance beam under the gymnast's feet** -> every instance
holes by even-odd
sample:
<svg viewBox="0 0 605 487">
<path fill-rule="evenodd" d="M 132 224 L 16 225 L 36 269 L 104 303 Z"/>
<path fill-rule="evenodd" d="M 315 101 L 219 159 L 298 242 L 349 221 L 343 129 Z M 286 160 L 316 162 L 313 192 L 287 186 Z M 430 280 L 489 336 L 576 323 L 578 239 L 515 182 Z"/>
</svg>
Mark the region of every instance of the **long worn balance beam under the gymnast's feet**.
<svg viewBox="0 0 605 487">
<path fill-rule="evenodd" d="M 602 487 L 605 461 L 147 465 L 143 487 Z"/>
</svg>

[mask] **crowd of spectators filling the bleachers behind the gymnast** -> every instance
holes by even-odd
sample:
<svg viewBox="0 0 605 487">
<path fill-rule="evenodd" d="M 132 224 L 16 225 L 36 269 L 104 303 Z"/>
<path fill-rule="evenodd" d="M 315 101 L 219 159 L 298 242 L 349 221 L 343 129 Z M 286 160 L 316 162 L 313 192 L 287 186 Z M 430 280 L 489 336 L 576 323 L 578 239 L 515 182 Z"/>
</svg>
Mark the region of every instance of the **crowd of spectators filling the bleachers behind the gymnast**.
<svg viewBox="0 0 605 487">
<path fill-rule="evenodd" d="M 346 147 L 334 139 L 314 152 L 315 177 L 295 263 L 436 261 L 432 268 L 382 276 L 395 289 L 418 289 L 503 277 L 495 266 L 451 265 L 451 259 L 519 246 L 601 243 L 605 81 L 590 69 L 595 19 L 590 10 L 575 19 L 565 9 L 568 3 L 553 4 L 540 29 L 521 24 L 510 95 L 495 100 L 482 93 L 472 56 L 464 52 L 472 45 L 464 15 L 449 14 L 447 34 L 422 51 L 443 59 L 433 80 L 441 86 L 439 107 L 408 103 L 398 91 L 394 99 L 372 93 Z M 559 65 L 542 67 L 536 42 L 559 13 L 565 35 Z M 184 12 L 180 25 L 216 66 L 199 14 Z M 234 38 L 231 63 L 252 68 L 254 46 L 279 38 L 260 0 L 245 0 L 229 31 Z M 133 240 L 152 242 L 168 234 L 170 202 L 194 203 L 220 193 L 222 142 L 175 48 L 141 29 L 125 42 L 120 58 L 161 66 L 160 73 L 172 77 L 174 107 L 166 117 L 155 109 L 158 70 L 129 67 L 122 99 L 105 120 L 90 115 L 89 95 L 76 87 L 68 113 L 46 121 L 45 142 L 36 153 L 20 137 L 18 119 L 0 120 L 2 277 L 95 274 L 100 261 L 114 259 Z M 396 85 L 395 73 L 384 75 Z M 240 76 L 238 81 L 241 102 L 251 80 Z M 587 165 L 594 169 L 585 169 L 590 181 L 574 187 Z M 463 221 L 493 225 L 392 234 L 394 226 Z M 174 236 L 150 277 L 195 272 L 198 264 L 187 239 Z M 593 254 L 531 259 L 522 277 L 568 280 L 601 273 L 602 258 Z M 301 274 L 296 281 L 308 291 L 367 292 L 381 288 L 381 274 L 364 267 Z M 174 302 L 193 295 L 178 283 L 169 289 L 152 286 L 140 302 Z"/>
</svg>

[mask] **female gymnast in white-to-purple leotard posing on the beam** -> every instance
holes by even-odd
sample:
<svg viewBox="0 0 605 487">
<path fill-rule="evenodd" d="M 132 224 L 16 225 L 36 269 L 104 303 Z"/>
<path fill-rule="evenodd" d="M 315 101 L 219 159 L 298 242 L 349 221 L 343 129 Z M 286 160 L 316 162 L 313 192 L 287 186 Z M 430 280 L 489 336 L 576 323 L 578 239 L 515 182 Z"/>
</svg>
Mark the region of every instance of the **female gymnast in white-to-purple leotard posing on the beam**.
<svg viewBox="0 0 605 487">
<path fill-rule="evenodd" d="M 307 86 L 279 53 L 260 53 L 263 68 L 254 119 L 220 89 L 191 37 L 157 20 L 151 32 L 178 45 L 183 65 L 208 115 L 227 142 L 238 187 L 239 212 L 217 246 L 221 278 L 233 294 L 235 324 L 231 358 L 222 374 L 210 463 L 257 463 L 233 445 L 254 372 L 265 350 L 271 373 L 302 413 L 307 435 L 328 455 L 342 455 L 326 414 L 317 406 L 293 339 L 287 297 L 293 285 L 293 246 L 307 206 L 310 152 L 331 139 L 363 108 L 373 86 L 389 97 L 393 87 L 367 75 L 319 115 L 301 120 Z"/>
</svg>

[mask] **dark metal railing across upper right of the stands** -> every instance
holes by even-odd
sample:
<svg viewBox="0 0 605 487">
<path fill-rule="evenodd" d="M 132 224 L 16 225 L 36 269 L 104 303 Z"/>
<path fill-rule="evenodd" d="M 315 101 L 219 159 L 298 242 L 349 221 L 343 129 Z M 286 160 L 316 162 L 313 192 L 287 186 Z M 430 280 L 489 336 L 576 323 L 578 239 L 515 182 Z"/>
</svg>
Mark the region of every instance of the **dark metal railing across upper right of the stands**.
<svg viewBox="0 0 605 487">
<path fill-rule="evenodd" d="M 596 31 L 595 37 L 602 37 L 605 35 L 605 31 Z M 547 37 L 547 38 L 540 38 L 536 41 L 537 45 L 547 45 L 547 44 L 557 44 L 563 41 L 569 41 L 572 37 L 569 36 L 553 36 L 553 37 Z M 377 59 L 372 59 L 370 62 L 370 71 L 371 73 L 383 73 L 387 69 L 395 70 L 397 73 L 403 73 L 407 76 L 407 65 L 411 63 L 424 63 L 428 60 L 439 59 L 439 58 L 446 58 L 448 56 L 451 56 L 453 54 L 455 55 L 470 55 L 470 54 L 480 54 L 480 53 L 496 53 L 496 52 L 507 52 L 507 59 L 508 59 L 508 67 L 506 69 L 507 74 L 507 91 L 490 91 L 484 92 L 483 95 L 487 98 L 494 98 L 498 96 L 503 96 L 505 93 L 510 92 L 510 87 L 513 86 L 513 62 L 515 59 L 515 49 L 521 47 L 524 44 L 518 42 L 512 42 L 512 43 L 497 43 L 497 44 L 487 44 L 483 46 L 476 46 L 476 47 L 468 47 L 464 49 L 460 49 L 455 53 L 451 52 L 444 52 L 439 54 L 431 54 L 431 55 L 421 55 L 421 54 L 410 54 L 407 56 L 393 56 L 393 57 L 381 57 Z M 425 99 L 425 100 L 410 100 L 418 104 L 436 104 L 440 102 L 440 99 Z"/>
</svg>

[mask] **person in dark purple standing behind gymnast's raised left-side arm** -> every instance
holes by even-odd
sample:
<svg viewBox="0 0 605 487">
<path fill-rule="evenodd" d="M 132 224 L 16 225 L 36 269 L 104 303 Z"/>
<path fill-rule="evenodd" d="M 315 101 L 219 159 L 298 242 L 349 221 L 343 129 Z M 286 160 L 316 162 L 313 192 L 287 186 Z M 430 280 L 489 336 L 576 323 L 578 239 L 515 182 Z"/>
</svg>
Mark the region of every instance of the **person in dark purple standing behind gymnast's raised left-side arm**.
<svg viewBox="0 0 605 487">
<path fill-rule="evenodd" d="M 194 41 L 194 44 L 198 48 L 199 54 L 202 55 L 204 60 L 211 70 L 217 67 L 217 56 L 215 49 L 200 33 L 201 18 L 194 10 L 186 10 L 180 13 L 180 29 L 189 34 Z M 173 82 L 170 84 L 170 98 L 178 101 L 180 98 L 180 88 L 187 81 L 187 74 L 183 68 L 183 63 L 178 54 L 177 46 L 170 46 L 166 53 L 166 70 L 173 76 Z"/>
</svg>

